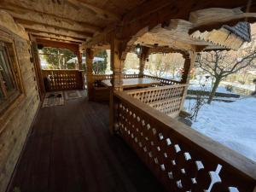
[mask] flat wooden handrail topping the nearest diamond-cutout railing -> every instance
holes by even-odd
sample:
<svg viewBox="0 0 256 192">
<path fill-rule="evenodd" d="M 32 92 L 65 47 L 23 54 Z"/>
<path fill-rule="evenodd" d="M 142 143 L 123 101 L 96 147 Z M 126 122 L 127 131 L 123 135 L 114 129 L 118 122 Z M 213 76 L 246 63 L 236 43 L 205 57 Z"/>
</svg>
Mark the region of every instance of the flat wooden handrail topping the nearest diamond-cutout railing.
<svg viewBox="0 0 256 192">
<path fill-rule="evenodd" d="M 247 157 L 238 154 L 236 151 L 225 147 L 212 138 L 202 135 L 200 132 L 191 129 L 188 125 L 172 119 L 164 113 L 149 107 L 147 104 L 129 96 L 127 92 L 114 92 L 123 102 L 136 108 L 140 113 L 148 116 L 148 119 L 154 119 L 156 125 L 159 125 L 160 131 L 169 132 L 172 136 L 178 137 L 183 143 L 191 146 L 203 156 L 207 156 L 207 160 L 216 160 L 219 164 L 228 167 L 231 172 L 250 180 L 256 186 L 256 162 L 247 159 Z"/>
</svg>

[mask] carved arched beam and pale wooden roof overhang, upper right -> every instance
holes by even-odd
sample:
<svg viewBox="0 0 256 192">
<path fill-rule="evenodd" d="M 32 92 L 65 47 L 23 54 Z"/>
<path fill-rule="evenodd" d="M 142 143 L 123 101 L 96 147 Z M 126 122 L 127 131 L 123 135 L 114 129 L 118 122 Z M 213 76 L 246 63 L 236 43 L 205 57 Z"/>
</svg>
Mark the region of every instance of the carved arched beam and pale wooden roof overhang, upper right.
<svg viewBox="0 0 256 192">
<path fill-rule="evenodd" d="M 230 5 L 232 6 L 232 3 Z M 246 8 L 247 12 L 244 12 Z M 139 14 L 138 10 L 137 14 Z M 160 10 L 163 12 L 160 12 Z M 240 21 L 253 23 L 256 20 L 255 12 L 254 3 L 248 7 L 248 4 L 244 2 L 244 6 L 234 9 L 209 8 L 195 10 L 188 13 L 187 20 L 167 19 L 170 15 L 162 18 L 160 15 L 166 13 L 164 8 L 155 10 L 155 12 L 148 14 L 148 17 L 137 15 L 138 18 L 136 18 L 133 13 L 135 19 L 131 18 L 132 14 L 125 15 L 121 26 L 115 26 L 113 31 L 109 27 L 105 29 L 105 32 L 91 38 L 83 45 L 84 47 L 90 47 L 109 44 L 111 36 L 115 36 L 116 38 L 125 39 L 125 52 L 131 51 L 135 44 L 154 49 L 149 52 L 156 52 L 156 50 L 160 50 L 160 52 L 177 50 L 174 52 L 179 52 L 238 49 L 247 40 L 239 36 L 239 33 L 228 30 L 225 26 L 236 28 L 241 24 Z M 182 16 L 180 17 L 182 18 Z M 131 20 L 128 20 L 128 18 Z M 249 29 L 247 32 L 250 35 Z"/>
</svg>

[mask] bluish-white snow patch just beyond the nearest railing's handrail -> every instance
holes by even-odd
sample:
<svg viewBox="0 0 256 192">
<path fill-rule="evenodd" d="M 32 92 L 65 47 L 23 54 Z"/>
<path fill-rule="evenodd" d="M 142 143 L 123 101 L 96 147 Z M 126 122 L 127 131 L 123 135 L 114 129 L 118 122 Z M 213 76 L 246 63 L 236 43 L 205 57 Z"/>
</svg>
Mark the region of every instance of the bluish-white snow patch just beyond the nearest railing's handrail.
<svg viewBox="0 0 256 192">
<path fill-rule="evenodd" d="M 192 128 L 256 161 L 256 98 L 206 104 Z"/>
</svg>

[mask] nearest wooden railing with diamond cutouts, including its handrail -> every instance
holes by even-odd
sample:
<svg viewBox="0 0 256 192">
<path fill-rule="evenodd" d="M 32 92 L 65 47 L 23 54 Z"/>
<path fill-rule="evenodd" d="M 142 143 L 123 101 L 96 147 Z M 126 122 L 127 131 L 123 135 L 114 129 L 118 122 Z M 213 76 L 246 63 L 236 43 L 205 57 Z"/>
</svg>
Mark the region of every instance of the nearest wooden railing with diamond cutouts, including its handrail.
<svg viewBox="0 0 256 192">
<path fill-rule="evenodd" d="M 253 192 L 254 161 L 126 92 L 114 101 L 114 127 L 167 191 Z"/>
</svg>

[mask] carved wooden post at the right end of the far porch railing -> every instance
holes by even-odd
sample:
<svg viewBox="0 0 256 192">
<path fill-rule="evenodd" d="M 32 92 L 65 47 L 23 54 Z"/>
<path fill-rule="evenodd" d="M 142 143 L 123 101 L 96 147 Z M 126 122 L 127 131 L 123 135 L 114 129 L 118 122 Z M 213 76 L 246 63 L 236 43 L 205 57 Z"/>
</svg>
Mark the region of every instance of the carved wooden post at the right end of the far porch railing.
<svg viewBox="0 0 256 192">
<path fill-rule="evenodd" d="M 94 53 L 92 49 L 86 49 L 86 84 L 89 101 L 93 100 L 93 73 L 92 62 Z"/>
</svg>

